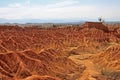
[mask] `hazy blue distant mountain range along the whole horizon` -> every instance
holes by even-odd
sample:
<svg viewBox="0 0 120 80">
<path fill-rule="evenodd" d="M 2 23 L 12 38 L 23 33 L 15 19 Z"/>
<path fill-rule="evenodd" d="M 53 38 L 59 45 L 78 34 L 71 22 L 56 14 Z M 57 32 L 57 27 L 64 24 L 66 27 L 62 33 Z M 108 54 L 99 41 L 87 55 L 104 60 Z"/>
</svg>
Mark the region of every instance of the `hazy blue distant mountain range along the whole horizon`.
<svg viewBox="0 0 120 80">
<path fill-rule="evenodd" d="M 3 19 L 0 18 L 0 24 L 7 24 L 7 23 L 18 23 L 18 24 L 26 24 L 26 23 L 61 23 L 61 24 L 81 24 L 86 21 L 96 21 L 94 19 L 85 18 L 84 20 L 81 19 Z M 120 23 L 120 21 L 108 21 L 106 23 Z"/>
</svg>

